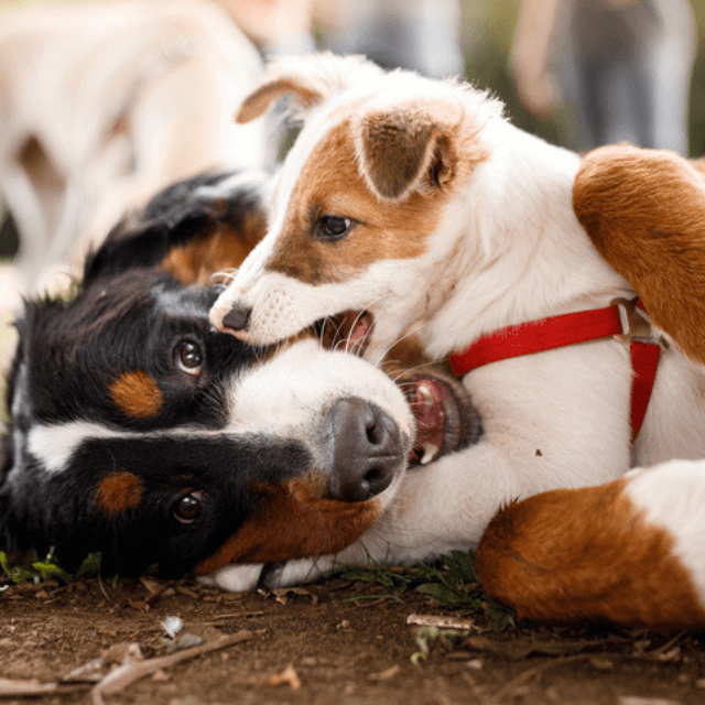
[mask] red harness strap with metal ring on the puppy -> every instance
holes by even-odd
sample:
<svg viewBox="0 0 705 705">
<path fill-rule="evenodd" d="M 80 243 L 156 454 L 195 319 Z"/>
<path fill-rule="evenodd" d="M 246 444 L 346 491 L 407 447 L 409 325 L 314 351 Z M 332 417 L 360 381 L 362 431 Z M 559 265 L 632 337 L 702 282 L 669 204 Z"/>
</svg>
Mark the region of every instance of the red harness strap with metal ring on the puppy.
<svg viewBox="0 0 705 705">
<path fill-rule="evenodd" d="M 609 336 L 621 340 L 631 356 L 633 442 L 647 413 L 661 351 L 658 340 L 652 337 L 651 322 L 636 299 L 619 299 L 605 308 L 551 316 L 488 333 L 464 350 L 453 352 L 451 367 L 455 375 L 463 377 L 489 362 Z"/>
</svg>

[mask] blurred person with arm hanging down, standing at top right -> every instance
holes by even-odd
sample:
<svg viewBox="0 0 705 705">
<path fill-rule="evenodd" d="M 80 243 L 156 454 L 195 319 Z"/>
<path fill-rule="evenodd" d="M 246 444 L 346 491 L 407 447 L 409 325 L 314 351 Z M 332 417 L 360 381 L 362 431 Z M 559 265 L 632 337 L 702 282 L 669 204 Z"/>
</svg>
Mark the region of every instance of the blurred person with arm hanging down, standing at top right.
<svg viewBox="0 0 705 705">
<path fill-rule="evenodd" d="M 687 0 L 522 0 L 510 67 L 532 115 L 565 110 L 572 149 L 686 154 L 694 57 Z"/>
</svg>

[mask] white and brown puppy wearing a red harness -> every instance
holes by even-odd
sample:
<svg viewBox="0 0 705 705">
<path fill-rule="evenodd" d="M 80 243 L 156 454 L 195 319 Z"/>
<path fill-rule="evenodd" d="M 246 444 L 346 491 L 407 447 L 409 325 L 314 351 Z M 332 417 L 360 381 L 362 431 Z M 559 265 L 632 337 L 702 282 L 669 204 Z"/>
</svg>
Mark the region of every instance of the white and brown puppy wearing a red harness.
<svg viewBox="0 0 705 705">
<path fill-rule="evenodd" d="M 579 158 L 466 84 L 358 57 L 271 64 L 238 120 L 285 94 L 303 128 L 212 322 L 272 345 L 358 312 L 368 359 L 406 338 L 449 357 L 482 419 L 478 443 L 405 476 L 371 555 L 475 546 L 531 498 L 478 551 L 520 615 L 703 623 L 705 475 L 686 460 L 705 455 L 705 376 L 578 221 Z"/>
</svg>

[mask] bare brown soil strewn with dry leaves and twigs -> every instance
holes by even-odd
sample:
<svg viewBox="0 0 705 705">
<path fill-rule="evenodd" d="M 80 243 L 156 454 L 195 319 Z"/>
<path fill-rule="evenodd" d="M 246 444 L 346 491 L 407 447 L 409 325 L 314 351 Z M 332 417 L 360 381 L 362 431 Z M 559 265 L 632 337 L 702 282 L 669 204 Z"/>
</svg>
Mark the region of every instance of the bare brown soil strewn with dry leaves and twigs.
<svg viewBox="0 0 705 705">
<path fill-rule="evenodd" d="M 188 581 L 154 578 L 120 578 L 115 586 L 96 577 L 67 586 L 7 579 L 4 585 L 0 693 L 25 681 L 58 684 L 52 694 L 31 701 L 14 696 L 18 703 L 98 703 L 95 682 L 69 682 L 67 674 L 104 654 L 100 679 L 111 657 L 124 657 L 127 644 L 138 644 L 148 660 L 185 653 L 187 649 L 173 649 L 184 633 L 213 643 L 241 630 L 249 633 L 241 637 L 245 641 L 162 668 L 102 695 L 104 702 L 705 702 L 705 634 L 538 625 L 498 630 L 484 615 L 442 609 L 419 593 L 405 593 L 402 604 L 377 597 L 383 587 L 343 578 L 276 595 L 228 594 Z M 433 638 L 406 623 L 411 614 L 469 619 L 471 628 Z M 174 639 L 161 625 L 167 616 L 184 622 Z"/>
</svg>

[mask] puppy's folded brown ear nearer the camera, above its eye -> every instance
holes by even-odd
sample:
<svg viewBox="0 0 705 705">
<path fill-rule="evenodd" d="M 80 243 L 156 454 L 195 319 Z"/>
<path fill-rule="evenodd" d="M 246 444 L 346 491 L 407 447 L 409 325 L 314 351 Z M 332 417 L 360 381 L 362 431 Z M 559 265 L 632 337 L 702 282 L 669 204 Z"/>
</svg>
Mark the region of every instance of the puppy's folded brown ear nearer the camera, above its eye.
<svg viewBox="0 0 705 705">
<path fill-rule="evenodd" d="M 368 187 L 382 198 L 401 200 L 414 191 L 448 187 L 471 155 L 460 159 L 458 106 L 445 116 L 416 106 L 366 113 L 354 121 L 356 151 Z M 451 119 L 448 119 L 451 117 Z M 476 155 L 478 156 L 478 155 Z"/>
</svg>

